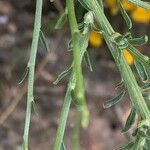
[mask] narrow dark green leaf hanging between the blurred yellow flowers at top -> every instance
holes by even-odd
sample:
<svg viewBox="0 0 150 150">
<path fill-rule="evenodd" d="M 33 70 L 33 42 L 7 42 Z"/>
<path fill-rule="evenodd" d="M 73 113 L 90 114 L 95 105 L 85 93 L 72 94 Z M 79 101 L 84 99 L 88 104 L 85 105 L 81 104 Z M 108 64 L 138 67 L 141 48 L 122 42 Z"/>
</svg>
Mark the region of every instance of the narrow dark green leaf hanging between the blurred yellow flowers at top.
<svg viewBox="0 0 150 150">
<path fill-rule="evenodd" d="M 132 21 L 131 21 L 129 15 L 127 14 L 127 12 L 124 9 L 123 5 L 121 4 L 120 0 L 117 0 L 117 3 L 118 3 L 118 6 L 119 6 L 121 14 L 122 14 L 122 17 L 124 18 L 128 29 L 131 29 L 132 28 Z"/>
</svg>

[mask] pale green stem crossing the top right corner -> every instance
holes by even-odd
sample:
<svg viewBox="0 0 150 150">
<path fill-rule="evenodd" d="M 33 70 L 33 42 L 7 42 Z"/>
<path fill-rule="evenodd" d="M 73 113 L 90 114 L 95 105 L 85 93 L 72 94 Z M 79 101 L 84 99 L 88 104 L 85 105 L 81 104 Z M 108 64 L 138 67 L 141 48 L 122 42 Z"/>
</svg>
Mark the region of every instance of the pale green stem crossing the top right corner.
<svg viewBox="0 0 150 150">
<path fill-rule="evenodd" d="M 147 3 L 147 2 L 143 2 L 141 0 L 128 0 L 128 1 L 135 4 L 135 5 L 137 5 L 137 6 L 139 6 L 139 7 L 150 10 L 150 4 Z"/>
</svg>

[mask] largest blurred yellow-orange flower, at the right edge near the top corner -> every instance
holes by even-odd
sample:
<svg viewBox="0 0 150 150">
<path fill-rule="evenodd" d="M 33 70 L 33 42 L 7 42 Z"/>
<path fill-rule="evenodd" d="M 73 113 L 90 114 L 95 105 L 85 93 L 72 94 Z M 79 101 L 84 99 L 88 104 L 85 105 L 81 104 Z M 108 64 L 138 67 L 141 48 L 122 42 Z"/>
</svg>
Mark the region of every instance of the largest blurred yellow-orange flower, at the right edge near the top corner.
<svg viewBox="0 0 150 150">
<path fill-rule="evenodd" d="M 136 22 L 149 23 L 150 22 L 150 11 L 145 10 L 141 7 L 137 7 L 134 11 L 132 11 L 131 17 Z"/>
</svg>

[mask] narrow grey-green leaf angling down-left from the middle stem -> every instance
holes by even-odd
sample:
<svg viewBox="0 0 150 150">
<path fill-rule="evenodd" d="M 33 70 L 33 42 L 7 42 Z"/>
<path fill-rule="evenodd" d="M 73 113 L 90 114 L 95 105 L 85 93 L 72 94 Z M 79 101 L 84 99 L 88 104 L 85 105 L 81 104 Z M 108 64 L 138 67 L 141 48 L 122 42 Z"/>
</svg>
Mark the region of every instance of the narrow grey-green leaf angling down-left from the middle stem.
<svg viewBox="0 0 150 150">
<path fill-rule="evenodd" d="M 64 77 L 66 77 L 69 73 L 70 73 L 70 71 L 71 71 L 71 69 L 72 69 L 72 66 L 73 65 L 71 65 L 71 66 L 69 66 L 68 68 L 66 68 L 63 72 L 61 72 L 59 75 L 58 75 L 58 77 L 57 77 L 57 79 L 53 82 L 53 84 L 58 84 Z"/>
</svg>

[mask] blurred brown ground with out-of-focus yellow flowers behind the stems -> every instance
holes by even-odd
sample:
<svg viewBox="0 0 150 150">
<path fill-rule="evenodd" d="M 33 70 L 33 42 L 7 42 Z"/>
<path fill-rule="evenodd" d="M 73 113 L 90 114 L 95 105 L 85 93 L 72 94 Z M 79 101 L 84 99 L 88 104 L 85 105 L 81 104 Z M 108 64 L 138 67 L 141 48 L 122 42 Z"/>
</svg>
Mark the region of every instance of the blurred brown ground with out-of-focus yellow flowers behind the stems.
<svg viewBox="0 0 150 150">
<path fill-rule="evenodd" d="M 105 13 L 112 26 L 120 33 L 127 28 L 118 10 L 115 0 L 104 0 Z M 150 12 L 122 1 L 133 20 L 132 34 L 135 37 L 150 33 Z M 60 110 L 68 82 L 68 77 L 59 85 L 53 82 L 57 75 L 71 64 L 69 27 L 54 30 L 55 23 L 63 12 L 65 1 L 44 0 L 42 31 L 44 32 L 51 53 L 39 42 L 36 75 L 35 101 L 37 113 L 32 113 L 30 128 L 30 149 L 52 149 Z M 76 3 L 76 8 L 78 3 Z M 27 80 L 18 84 L 24 73 L 30 55 L 34 24 L 35 0 L 0 1 L 0 150 L 19 150 L 25 121 Z M 149 42 L 137 47 L 150 56 Z M 103 102 L 115 96 L 115 86 L 120 82 L 120 74 L 109 50 L 100 34 L 90 34 L 88 51 L 93 72 L 83 65 L 86 97 L 90 110 L 90 124 L 81 130 L 81 150 L 112 150 L 126 143 L 131 133 L 122 134 L 121 129 L 130 112 L 130 100 L 126 94 L 124 100 L 111 109 L 104 109 Z M 125 53 L 127 62 L 133 71 L 134 58 Z M 135 72 L 136 75 L 136 72 Z M 71 150 L 72 130 L 74 126 L 75 105 L 71 110 L 66 126 L 64 142 Z"/>
</svg>

